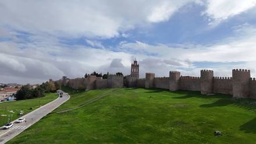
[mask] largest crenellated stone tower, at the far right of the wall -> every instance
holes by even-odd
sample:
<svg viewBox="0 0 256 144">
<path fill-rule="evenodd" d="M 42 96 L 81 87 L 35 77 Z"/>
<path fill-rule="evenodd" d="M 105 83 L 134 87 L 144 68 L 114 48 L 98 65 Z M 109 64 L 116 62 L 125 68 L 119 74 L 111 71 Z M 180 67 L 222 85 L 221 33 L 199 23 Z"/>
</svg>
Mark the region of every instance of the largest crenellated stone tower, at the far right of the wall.
<svg viewBox="0 0 256 144">
<path fill-rule="evenodd" d="M 232 70 L 233 98 L 250 97 L 250 70 Z"/>
</svg>

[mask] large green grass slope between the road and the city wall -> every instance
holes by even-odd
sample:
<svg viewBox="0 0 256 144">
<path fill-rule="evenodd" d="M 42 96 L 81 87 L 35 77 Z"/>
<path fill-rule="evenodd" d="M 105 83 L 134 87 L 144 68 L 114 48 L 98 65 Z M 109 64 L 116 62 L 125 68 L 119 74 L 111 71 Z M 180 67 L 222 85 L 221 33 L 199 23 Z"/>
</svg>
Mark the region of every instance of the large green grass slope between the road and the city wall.
<svg viewBox="0 0 256 144">
<path fill-rule="evenodd" d="M 256 143 L 255 100 L 162 89 L 72 93 L 55 111 L 9 143 Z M 214 136 L 214 131 L 222 136 Z"/>
</svg>

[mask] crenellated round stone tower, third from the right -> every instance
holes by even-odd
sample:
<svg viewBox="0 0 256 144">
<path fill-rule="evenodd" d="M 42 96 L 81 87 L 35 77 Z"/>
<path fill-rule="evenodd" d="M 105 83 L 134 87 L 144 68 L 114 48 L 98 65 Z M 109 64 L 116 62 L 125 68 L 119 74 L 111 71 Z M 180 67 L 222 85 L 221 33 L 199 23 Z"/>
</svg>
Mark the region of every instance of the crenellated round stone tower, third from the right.
<svg viewBox="0 0 256 144">
<path fill-rule="evenodd" d="M 180 88 L 180 72 L 170 71 L 169 72 L 169 90 L 177 91 Z"/>
</svg>

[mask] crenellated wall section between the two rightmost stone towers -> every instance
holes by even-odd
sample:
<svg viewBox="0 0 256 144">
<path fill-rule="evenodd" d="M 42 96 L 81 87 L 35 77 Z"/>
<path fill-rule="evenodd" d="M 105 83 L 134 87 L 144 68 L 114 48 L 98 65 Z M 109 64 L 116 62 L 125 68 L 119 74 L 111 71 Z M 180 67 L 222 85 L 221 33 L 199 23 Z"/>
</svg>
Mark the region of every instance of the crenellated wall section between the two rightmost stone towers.
<svg viewBox="0 0 256 144">
<path fill-rule="evenodd" d="M 232 77 L 214 77 L 214 93 L 233 94 Z"/>
</svg>

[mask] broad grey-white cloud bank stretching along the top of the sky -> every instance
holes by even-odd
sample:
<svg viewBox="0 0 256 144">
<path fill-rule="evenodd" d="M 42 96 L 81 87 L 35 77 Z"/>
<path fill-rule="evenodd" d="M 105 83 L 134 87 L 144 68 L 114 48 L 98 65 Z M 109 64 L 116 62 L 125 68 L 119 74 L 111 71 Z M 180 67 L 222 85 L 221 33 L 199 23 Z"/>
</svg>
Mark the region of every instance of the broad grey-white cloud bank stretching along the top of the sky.
<svg viewBox="0 0 256 144">
<path fill-rule="evenodd" d="M 255 6 L 255 0 L 1 1 L 0 27 L 55 37 L 127 37 L 137 26 L 169 20 L 180 8 L 198 3 L 205 15 L 222 20 Z M 0 30 L 1 33 L 1 30 Z"/>
</svg>

